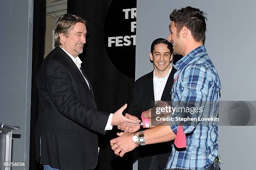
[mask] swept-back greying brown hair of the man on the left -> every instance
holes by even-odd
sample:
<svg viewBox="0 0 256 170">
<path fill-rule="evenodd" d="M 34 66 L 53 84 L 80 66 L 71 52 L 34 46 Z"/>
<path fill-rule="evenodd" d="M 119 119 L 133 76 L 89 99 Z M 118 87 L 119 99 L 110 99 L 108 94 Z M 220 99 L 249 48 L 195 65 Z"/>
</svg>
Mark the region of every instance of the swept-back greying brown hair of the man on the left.
<svg viewBox="0 0 256 170">
<path fill-rule="evenodd" d="M 56 28 L 54 31 L 54 47 L 60 46 L 61 42 L 59 41 L 59 34 L 63 33 L 66 37 L 69 36 L 69 32 L 73 30 L 76 23 L 83 23 L 86 25 L 86 20 L 82 17 L 72 14 L 61 15 L 59 20 L 56 23 Z"/>
</svg>

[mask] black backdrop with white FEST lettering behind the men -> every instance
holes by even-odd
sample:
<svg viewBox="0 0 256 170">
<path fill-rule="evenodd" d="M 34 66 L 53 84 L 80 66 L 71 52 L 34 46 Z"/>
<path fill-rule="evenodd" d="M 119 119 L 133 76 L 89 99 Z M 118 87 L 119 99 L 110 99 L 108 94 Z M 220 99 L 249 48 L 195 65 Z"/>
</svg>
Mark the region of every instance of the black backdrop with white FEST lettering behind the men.
<svg viewBox="0 0 256 170">
<path fill-rule="evenodd" d="M 98 110 L 115 112 L 129 105 L 135 78 L 136 0 L 68 0 L 67 12 L 87 20 L 87 42 L 79 57 Z M 100 136 L 98 169 L 132 169 L 131 154 L 120 159 L 110 148 L 116 133 Z"/>
</svg>

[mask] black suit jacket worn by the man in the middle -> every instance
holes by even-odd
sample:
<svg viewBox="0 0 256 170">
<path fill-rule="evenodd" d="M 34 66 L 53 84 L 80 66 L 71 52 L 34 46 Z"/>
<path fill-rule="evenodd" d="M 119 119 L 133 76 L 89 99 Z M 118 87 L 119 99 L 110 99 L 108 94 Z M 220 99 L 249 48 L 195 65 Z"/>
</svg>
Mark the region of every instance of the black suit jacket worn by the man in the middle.
<svg viewBox="0 0 256 170">
<path fill-rule="evenodd" d="M 171 90 L 175 72 L 176 69 L 172 67 L 172 71 L 168 77 L 168 80 L 164 87 L 164 92 L 161 97 L 161 100 L 163 101 L 171 101 Z M 138 80 L 136 80 L 135 88 L 133 91 L 133 102 L 129 107 L 128 113 L 140 117 L 143 111 L 146 111 L 152 107 L 151 101 L 155 101 L 153 87 L 153 71 L 149 72 L 146 75 L 143 75 Z M 140 146 L 138 157 L 138 170 L 148 170 L 153 155 L 158 156 L 159 165 L 161 169 L 164 169 L 171 151 L 172 141 L 158 143 L 154 145 Z"/>
</svg>

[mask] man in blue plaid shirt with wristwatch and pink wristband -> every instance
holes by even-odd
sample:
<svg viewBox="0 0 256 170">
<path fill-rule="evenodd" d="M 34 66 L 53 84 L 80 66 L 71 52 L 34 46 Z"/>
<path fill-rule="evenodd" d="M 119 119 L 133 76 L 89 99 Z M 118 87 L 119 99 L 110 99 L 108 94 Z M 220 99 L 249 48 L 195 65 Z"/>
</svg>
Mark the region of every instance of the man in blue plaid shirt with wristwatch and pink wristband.
<svg viewBox="0 0 256 170">
<path fill-rule="evenodd" d="M 172 22 L 168 40 L 173 44 L 173 53 L 183 56 L 176 63 L 172 106 L 201 107 L 203 112 L 200 118 L 209 118 L 210 115 L 217 117 L 221 85 L 217 71 L 203 45 L 205 13 L 194 7 L 184 7 L 174 10 L 170 19 Z M 176 111 L 172 114 L 184 116 L 183 112 Z M 178 123 L 184 129 L 187 147 L 173 147 L 166 169 L 218 170 L 218 163 L 215 161 L 218 155 L 217 123 L 202 123 L 198 120 Z M 151 124 L 149 129 L 141 132 L 119 133 L 120 137 L 111 140 L 110 144 L 115 154 L 122 157 L 138 145 L 174 140 L 177 137 L 178 125 L 177 121 L 163 122 L 160 126 Z M 138 137 L 138 141 L 134 140 L 134 136 Z"/>
</svg>

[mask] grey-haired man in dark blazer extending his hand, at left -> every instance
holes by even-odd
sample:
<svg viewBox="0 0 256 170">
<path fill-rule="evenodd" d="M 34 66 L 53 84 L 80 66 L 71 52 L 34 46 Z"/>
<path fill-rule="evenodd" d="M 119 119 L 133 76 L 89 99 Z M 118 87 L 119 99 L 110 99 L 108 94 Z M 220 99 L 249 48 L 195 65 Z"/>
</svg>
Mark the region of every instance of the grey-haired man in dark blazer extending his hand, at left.
<svg viewBox="0 0 256 170">
<path fill-rule="evenodd" d="M 138 124 L 122 115 L 97 110 L 90 81 L 78 55 L 86 42 L 86 21 L 62 15 L 55 29 L 55 49 L 37 75 L 39 101 L 36 122 L 36 160 L 51 170 L 91 170 L 97 165 L 97 134 L 112 125 Z"/>
</svg>

